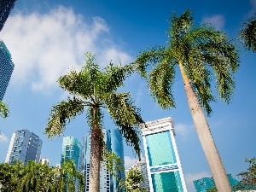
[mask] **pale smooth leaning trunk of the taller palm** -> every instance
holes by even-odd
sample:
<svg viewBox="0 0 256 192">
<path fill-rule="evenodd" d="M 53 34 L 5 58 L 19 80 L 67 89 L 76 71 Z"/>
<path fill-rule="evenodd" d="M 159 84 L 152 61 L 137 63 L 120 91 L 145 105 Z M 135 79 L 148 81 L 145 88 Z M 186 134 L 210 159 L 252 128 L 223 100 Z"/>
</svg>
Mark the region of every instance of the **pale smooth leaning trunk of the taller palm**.
<svg viewBox="0 0 256 192">
<path fill-rule="evenodd" d="M 206 116 L 201 109 L 198 98 L 195 96 L 195 92 L 192 89 L 189 79 L 183 71 L 183 66 L 179 65 L 179 67 L 182 73 L 184 89 L 189 103 L 190 113 L 195 125 L 195 130 L 204 153 L 206 154 L 207 162 L 211 169 L 216 188 L 218 189 L 218 192 L 231 192 L 230 183 L 222 161 L 220 160 L 218 150 L 213 141 Z"/>
</svg>

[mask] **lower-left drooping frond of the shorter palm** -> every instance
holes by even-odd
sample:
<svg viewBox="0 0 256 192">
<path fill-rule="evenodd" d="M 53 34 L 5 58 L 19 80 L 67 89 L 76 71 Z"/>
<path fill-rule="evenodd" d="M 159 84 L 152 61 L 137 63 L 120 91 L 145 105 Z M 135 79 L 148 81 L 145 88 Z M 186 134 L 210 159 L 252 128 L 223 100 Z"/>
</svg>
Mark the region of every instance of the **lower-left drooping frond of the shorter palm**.
<svg viewBox="0 0 256 192">
<path fill-rule="evenodd" d="M 44 134 L 48 137 L 60 136 L 65 130 L 66 125 L 75 118 L 76 115 L 83 113 L 83 111 L 83 101 L 76 97 L 73 97 L 73 99 L 68 97 L 67 102 L 60 102 L 51 109 Z"/>
</svg>

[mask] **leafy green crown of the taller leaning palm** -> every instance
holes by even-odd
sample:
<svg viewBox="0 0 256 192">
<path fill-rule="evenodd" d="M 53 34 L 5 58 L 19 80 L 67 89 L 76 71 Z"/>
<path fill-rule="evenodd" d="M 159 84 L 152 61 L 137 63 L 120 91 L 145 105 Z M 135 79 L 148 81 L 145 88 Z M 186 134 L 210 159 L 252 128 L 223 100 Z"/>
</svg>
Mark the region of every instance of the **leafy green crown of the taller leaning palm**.
<svg viewBox="0 0 256 192">
<path fill-rule="evenodd" d="M 142 51 L 136 63 L 144 77 L 146 67 L 154 65 L 148 84 L 152 96 L 162 108 L 176 107 L 172 93 L 175 67 L 183 68 L 201 106 L 210 115 L 210 102 L 216 101 L 211 90 L 213 74 L 218 96 L 229 103 L 235 88 L 232 74 L 239 67 L 238 53 L 224 32 L 206 25 L 195 27 L 193 20 L 189 10 L 180 17 L 173 14 L 168 46 Z"/>
</svg>

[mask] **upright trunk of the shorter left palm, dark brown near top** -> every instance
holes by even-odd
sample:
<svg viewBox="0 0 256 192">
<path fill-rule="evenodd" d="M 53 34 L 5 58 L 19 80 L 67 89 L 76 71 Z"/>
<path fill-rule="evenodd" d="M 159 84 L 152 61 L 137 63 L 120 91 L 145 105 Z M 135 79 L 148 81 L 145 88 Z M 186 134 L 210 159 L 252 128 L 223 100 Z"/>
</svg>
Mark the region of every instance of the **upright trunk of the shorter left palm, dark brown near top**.
<svg viewBox="0 0 256 192">
<path fill-rule="evenodd" d="M 97 124 L 97 107 L 94 107 L 94 125 L 90 135 L 90 173 L 89 173 L 89 191 L 100 191 L 100 137 L 101 130 Z"/>
</svg>

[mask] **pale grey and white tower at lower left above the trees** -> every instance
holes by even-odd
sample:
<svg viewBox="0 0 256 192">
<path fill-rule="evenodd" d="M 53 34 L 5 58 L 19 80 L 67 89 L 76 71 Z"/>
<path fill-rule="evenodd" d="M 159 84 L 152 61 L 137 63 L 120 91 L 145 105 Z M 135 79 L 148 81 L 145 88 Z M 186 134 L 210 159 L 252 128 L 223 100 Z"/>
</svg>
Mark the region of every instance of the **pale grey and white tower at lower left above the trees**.
<svg viewBox="0 0 256 192">
<path fill-rule="evenodd" d="M 39 162 L 42 145 L 42 140 L 31 131 L 15 131 L 9 143 L 9 150 L 5 162 L 9 164 L 16 160 L 25 163 L 29 160 Z"/>
</svg>

